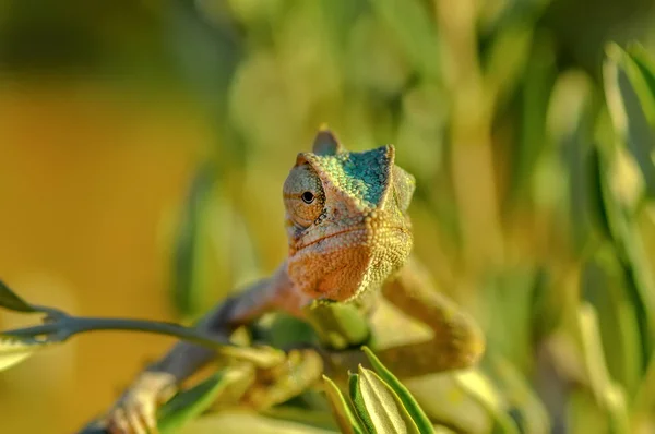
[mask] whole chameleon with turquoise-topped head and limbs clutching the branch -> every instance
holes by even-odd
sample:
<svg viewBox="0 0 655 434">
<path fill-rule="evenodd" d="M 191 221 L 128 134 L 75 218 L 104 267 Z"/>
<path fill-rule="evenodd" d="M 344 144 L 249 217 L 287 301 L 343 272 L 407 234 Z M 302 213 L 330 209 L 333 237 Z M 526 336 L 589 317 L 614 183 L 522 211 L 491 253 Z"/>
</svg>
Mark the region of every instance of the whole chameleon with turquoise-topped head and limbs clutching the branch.
<svg viewBox="0 0 655 434">
<path fill-rule="evenodd" d="M 357 348 L 370 336 L 349 334 L 338 315 L 330 313 L 331 308 L 357 312 L 368 322 L 384 298 L 431 329 L 427 340 L 376 348 L 380 360 L 401 378 L 468 367 L 483 354 L 485 340 L 479 327 L 431 287 L 410 257 L 407 208 L 415 179 L 395 166 L 394 153 L 392 145 L 347 152 L 322 128 L 312 152 L 297 156 L 284 183 L 287 260 L 271 277 L 224 300 L 196 325 L 227 339 L 236 328 L 265 313 L 283 311 L 317 329 L 321 347 L 330 355 L 296 386 L 271 387 L 275 391 L 263 399 L 267 406 L 301 393 L 324 369 L 345 375 L 364 360 Z M 327 314 L 321 313 L 322 309 Z M 107 430 L 115 434 L 150 432 L 157 406 L 213 358 L 215 353 L 209 349 L 177 343 L 120 397 L 105 418 Z"/>
</svg>

